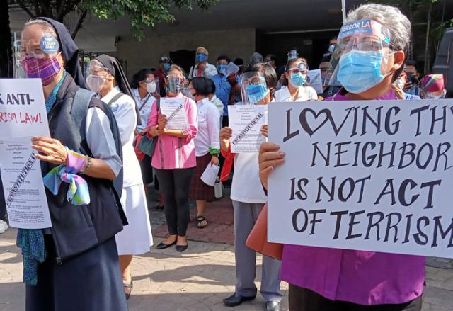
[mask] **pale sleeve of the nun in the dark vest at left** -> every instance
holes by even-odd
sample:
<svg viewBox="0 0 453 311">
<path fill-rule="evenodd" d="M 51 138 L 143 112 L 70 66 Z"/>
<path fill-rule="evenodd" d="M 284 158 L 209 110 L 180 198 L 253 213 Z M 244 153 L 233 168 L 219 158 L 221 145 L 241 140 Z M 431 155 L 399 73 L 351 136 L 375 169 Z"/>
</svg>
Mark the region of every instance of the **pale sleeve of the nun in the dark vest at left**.
<svg viewBox="0 0 453 311">
<path fill-rule="evenodd" d="M 101 109 L 96 107 L 88 109 L 85 137 L 93 157 L 103 159 L 117 176 L 120 173 L 122 162 L 116 152 L 110 121 Z"/>
</svg>

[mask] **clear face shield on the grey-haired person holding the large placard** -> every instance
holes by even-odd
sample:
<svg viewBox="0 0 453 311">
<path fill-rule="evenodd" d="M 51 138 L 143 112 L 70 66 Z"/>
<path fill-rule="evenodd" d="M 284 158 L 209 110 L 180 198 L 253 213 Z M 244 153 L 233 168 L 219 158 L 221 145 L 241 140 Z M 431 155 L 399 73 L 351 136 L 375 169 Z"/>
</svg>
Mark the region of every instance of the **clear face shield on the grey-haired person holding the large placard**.
<svg viewBox="0 0 453 311">
<path fill-rule="evenodd" d="M 386 69 L 394 54 L 390 40 L 390 31 L 370 19 L 343 25 L 325 85 L 343 86 L 358 94 L 379 84 L 392 73 Z"/>
</svg>

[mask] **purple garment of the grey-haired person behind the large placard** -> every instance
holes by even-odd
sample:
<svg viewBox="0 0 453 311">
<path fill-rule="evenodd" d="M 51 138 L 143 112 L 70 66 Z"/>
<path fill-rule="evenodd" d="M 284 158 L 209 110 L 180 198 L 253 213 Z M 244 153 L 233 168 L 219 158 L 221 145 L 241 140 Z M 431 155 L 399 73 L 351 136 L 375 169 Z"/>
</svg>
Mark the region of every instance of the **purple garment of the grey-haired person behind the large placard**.
<svg viewBox="0 0 453 311">
<path fill-rule="evenodd" d="M 326 101 L 347 101 L 344 90 Z M 396 99 L 394 91 L 377 99 Z M 285 245 L 282 280 L 330 300 L 399 304 L 423 294 L 425 257 Z"/>
</svg>

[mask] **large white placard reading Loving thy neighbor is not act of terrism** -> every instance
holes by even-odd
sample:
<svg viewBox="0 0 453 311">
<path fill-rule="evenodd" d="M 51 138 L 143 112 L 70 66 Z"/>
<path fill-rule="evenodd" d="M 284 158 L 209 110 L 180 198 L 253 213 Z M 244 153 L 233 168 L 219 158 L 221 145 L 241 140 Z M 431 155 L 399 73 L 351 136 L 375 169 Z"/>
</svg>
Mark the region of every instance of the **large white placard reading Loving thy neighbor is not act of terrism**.
<svg viewBox="0 0 453 311">
<path fill-rule="evenodd" d="M 453 258 L 453 101 L 270 103 L 270 242 Z"/>
</svg>

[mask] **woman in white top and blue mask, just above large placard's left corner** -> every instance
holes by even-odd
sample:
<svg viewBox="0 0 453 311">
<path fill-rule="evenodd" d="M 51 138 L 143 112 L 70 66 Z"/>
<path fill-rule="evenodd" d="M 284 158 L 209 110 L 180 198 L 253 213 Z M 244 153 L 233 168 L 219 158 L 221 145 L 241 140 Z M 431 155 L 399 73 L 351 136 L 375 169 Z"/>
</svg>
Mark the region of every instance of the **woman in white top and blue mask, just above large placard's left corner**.
<svg viewBox="0 0 453 311">
<path fill-rule="evenodd" d="M 307 84 L 307 63 L 304 58 L 294 58 L 286 64 L 285 85 L 275 92 L 275 101 L 316 101 L 318 94 Z"/>
</svg>

